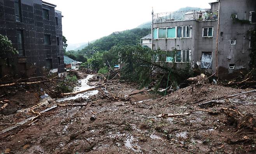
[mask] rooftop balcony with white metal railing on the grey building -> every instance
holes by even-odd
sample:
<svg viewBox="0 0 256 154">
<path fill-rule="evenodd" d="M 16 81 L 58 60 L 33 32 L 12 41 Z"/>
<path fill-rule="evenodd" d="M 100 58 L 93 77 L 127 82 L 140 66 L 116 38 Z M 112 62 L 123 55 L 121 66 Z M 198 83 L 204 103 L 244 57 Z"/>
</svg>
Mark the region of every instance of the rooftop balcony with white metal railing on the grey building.
<svg viewBox="0 0 256 154">
<path fill-rule="evenodd" d="M 219 10 L 196 11 L 187 10 L 181 12 L 165 12 L 154 14 L 153 23 L 172 21 L 210 21 L 218 19 Z"/>
</svg>

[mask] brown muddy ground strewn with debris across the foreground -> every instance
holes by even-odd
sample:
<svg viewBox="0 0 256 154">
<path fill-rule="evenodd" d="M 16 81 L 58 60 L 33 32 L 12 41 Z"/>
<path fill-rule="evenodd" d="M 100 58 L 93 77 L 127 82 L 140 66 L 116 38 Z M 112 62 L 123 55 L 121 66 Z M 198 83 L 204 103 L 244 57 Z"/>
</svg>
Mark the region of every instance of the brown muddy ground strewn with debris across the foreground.
<svg viewBox="0 0 256 154">
<path fill-rule="evenodd" d="M 99 84 L 98 80 L 91 80 L 89 85 Z M 36 104 L 43 102 L 35 108 L 35 112 L 40 112 L 56 104 L 77 103 L 40 99 L 39 92 L 19 90 L 1 98 L 9 100 L 9 107 L 14 106 L 18 112 L 0 115 L 0 152 L 255 154 L 256 93 L 224 99 L 253 89 L 206 82 L 192 86 L 162 97 L 150 89 L 137 90 L 136 83 L 112 80 L 106 86 L 107 95 L 102 87 L 98 94 L 82 101 L 87 103 L 85 107 L 55 107 L 42 113 L 35 123 L 29 120 L 24 125 L 15 125 L 35 116 L 29 108 Z M 134 95 L 128 97 L 131 93 Z M 198 107 L 214 99 L 220 100 Z M 17 127 L 3 133 L 11 126 Z"/>
</svg>

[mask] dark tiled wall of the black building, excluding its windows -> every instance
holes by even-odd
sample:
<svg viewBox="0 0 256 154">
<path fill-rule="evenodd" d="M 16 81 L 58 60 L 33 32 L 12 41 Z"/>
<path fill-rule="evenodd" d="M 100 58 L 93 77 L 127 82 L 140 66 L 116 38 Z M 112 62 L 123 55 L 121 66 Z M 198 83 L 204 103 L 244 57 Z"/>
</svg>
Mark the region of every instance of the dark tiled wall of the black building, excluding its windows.
<svg viewBox="0 0 256 154">
<path fill-rule="evenodd" d="M 49 20 L 43 19 L 42 9 L 49 10 Z M 14 73 L 20 76 L 40 76 L 48 73 L 46 70 L 46 60 L 51 59 L 53 70 L 58 69 L 58 73 L 63 73 L 63 45 L 61 12 L 54 10 L 54 7 L 42 5 L 41 0 L 21 0 L 22 22 L 16 22 L 14 1 L 0 0 L 0 34 L 6 35 L 13 44 L 18 47 L 17 29 L 23 30 L 25 56 L 9 57 L 12 66 L 2 65 L 2 73 Z M 55 17 L 58 17 L 56 26 Z M 51 36 L 51 45 L 44 44 L 44 35 Z M 57 46 L 56 37 L 59 37 L 60 45 Z M 58 62 L 60 58 L 60 65 Z M 25 67 L 24 71 L 21 70 Z"/>
</svg>

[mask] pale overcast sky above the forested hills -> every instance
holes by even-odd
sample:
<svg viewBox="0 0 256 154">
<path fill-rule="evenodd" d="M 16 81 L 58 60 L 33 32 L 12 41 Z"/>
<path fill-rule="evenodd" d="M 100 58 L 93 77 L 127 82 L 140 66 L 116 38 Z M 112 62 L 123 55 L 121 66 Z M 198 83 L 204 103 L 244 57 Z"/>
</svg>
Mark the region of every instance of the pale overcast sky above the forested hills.
<svg viewBox="0 0 256 154">
<path fill-rule="evenodd" d="M 62 31 L 68 44 L 88 42 L 114 31 L 136 28 L 154 13 L 181 7 L 210 8 L 216 0 L 44 0 L 62 12 Z"/>
</svg>

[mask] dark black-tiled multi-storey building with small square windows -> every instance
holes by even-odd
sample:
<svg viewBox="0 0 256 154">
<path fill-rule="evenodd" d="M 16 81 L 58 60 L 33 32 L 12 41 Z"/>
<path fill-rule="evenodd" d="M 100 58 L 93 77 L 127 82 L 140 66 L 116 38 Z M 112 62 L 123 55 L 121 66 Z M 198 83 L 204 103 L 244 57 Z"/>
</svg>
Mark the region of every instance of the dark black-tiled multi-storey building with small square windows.
<svg viewBox="0 0 256 154">
<path fill-rule="evenodd" d="M 18 50 L 17 55 L 1 56 L 8 63 L 0 61 L 2 76 L 64 74 L 62 15 L 55 7 L 42 0 L 0 0 L 0 34 Z"/>
</svg>

